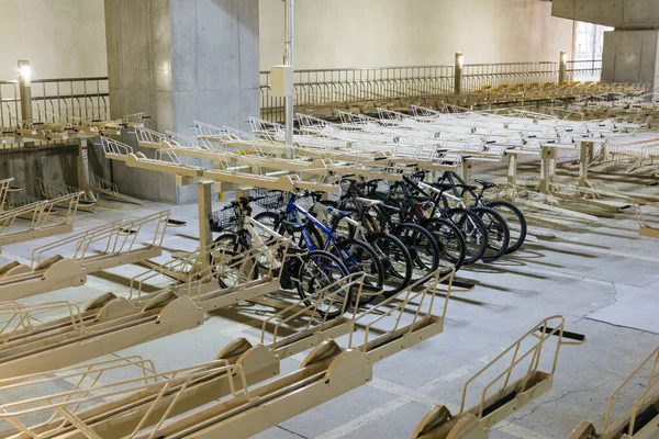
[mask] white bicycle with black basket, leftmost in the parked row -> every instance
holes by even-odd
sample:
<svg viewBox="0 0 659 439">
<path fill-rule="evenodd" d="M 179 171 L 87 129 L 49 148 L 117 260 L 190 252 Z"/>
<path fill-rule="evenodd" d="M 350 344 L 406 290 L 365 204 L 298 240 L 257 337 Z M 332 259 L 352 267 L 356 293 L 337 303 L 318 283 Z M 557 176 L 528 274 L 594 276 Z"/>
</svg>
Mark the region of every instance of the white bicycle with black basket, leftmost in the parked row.
<svg viewBox="0 0 659 439">
<path fill-rule="evenodd" d="M 211 215 L 211 229 L 220 232 L 221 235 L 214 240 L 214 250 L 222 254 L 238 255 L 253 246 L 267 246 L 269 241 L 282 238 L 282 235 L 270 229 L 265 224 L 252 217 L 250 203 L 263 200 L 263 196 L 243 196 L 238 201 L 232 201 L 227 206 Z M 291 232 L 298 230 L 295 225 L 283 225 L 290 227 Z M 288 257 L 292 255 L 291 257 Z M 209 255 L 211 261 L 213 252 Z M 316 292 L 334 284 L 339 279 L 349 274 L 348 269 L 336 256 L 324 250 L 305 250 L 289 246 L 288 255 L 273 255 L 271 250 L 265 251 L 258 259 L 253 261 L 254 277 L 258 278 L 258 269 L 272 269 L 279 274 L 279 282 L 283 290 L 295 289 L 300 299 L 306 305 L 311 304 Z M 235 273 L 236 279 L 241 273 Z M 231 280 L 228 280 L 231 282 Z M 232 286 L 226 278 L 220 279 L 222 288 Z M 235 283 L 234 283 L 235 285 Z M 350 294 L 350 292 L 348 293 Z M 346 303 L 350 303 L 350 296 Z M 319 306 L 320 314 L 334 318 L 339 316 L 344 306 L 332 301 Z"/>
</svg>

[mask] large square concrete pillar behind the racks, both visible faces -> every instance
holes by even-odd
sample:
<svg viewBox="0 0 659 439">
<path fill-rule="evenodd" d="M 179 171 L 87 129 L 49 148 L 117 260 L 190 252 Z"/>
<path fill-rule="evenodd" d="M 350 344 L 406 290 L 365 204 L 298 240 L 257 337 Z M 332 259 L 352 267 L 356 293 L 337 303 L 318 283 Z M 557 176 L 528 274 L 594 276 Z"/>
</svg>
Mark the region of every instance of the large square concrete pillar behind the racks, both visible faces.
<svg viewBox="0 0 659 439">
<path fill-rule="evenodd" d="M 105 40 L 113 119 L 146 112 L 147 127 L 190 135 L 194 120 L 239 128 L 259 114 L 258 0 L 105 0 Z M 114 162 L 112 177 L 130 195 L 197 199 L 174 176 Z"/>
</svg>

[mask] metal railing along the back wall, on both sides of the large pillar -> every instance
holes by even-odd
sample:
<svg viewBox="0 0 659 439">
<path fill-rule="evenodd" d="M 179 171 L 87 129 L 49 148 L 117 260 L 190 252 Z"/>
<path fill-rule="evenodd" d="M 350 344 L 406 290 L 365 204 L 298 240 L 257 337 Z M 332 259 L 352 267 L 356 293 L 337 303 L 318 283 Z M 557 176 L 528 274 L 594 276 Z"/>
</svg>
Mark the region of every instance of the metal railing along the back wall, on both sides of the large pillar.
<svg viewBox="0 0 659 439">
<path fill-rule="evenodd" d="M 462 92 L 483 86 L 544 83 L 558 80 L 559 63 L 468 64 L 462 67 Z M 602 60 L 568 61 L 566 80 L 597 81 Z M 305 69 L 293 74 L 295 105 L 359 102 L 453 93 L 454 66 L 401 66 Z M 284 98 L 270 92 L 270 72 L 260 72 L 261 117 L 283 120 Z M 33 120 L 66 123 L 71 119 L 110 119 L 107 77 L 37 79 L 32 81 Z M 15 126 L 21 100 L 18 81 L 0 81 L 0 126 Z"/>
</svg>

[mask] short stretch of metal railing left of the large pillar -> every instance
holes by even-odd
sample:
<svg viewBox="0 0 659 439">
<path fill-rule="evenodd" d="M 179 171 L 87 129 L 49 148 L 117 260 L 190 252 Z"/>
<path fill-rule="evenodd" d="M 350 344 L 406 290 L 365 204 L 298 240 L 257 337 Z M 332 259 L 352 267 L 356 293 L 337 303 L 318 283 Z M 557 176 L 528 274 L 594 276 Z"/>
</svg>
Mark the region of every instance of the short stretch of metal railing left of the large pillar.
<svg viewBox="0 0 659 439">
<path fill-rule="evenodd" d="M 31 89 L 33 122 L 110 119 L 108 77 L 36 79 Z M 0 126 L 16 126 L 21 119 L 19 81 L 0 81 Z"/>
</svg>

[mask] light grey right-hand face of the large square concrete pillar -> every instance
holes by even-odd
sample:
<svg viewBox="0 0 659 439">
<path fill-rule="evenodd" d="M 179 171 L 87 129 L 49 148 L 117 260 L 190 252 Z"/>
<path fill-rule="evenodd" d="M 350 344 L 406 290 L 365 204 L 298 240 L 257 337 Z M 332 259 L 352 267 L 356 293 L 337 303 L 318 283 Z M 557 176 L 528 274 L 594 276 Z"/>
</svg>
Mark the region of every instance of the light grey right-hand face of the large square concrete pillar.
<svg viewBox="0 0 659 439">
<path fill-rule="evenodd" d="M 259 114 L 258 0 L 171 0 L 174 127 Z"/>
</svg>

